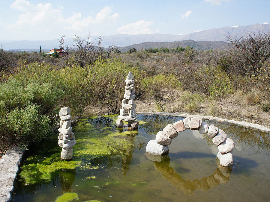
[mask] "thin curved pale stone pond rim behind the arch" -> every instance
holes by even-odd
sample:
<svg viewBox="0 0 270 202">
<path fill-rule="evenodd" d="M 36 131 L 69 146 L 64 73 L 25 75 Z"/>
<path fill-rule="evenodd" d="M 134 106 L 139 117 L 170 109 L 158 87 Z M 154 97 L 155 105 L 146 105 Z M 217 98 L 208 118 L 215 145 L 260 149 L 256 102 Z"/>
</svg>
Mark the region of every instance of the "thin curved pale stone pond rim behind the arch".
<svg viewBox="0 0 270 202">
<path fill-rule="evenodd" d="M 207 120 L 211 120 L 211 121 L 214 120 L 214 121 L 218 121 L 218 122 L 226 122 L 226 123 L 236 124 L 236 125 L 239 125 L 239 126 L 243 126 L 243 127 L 254 129 L 254 130 L 259 130 L 259 131 L 270 134 L 270 128 L 265 127 L 265 126 L 261 126 L 259 124 L 253 124 L 253 123 L 249 123 L 249 122 L 245 122 L 245 121 L 234 121 L 234 120 L 229 120 L 229 119 L 222 119 L 222 118 L 213 117 L 213 116 L 179 114 L 179 113 L 165 113 L 165 112 L 148 112 L 148 113 L 147 112 L 137 112 L 137 114 L 174 116 L 174 117 L 182 117 L 182 118 L 198 117 L 198 118 L 201 118 L 201 119 L 207 119 Z"/>
</svg>

